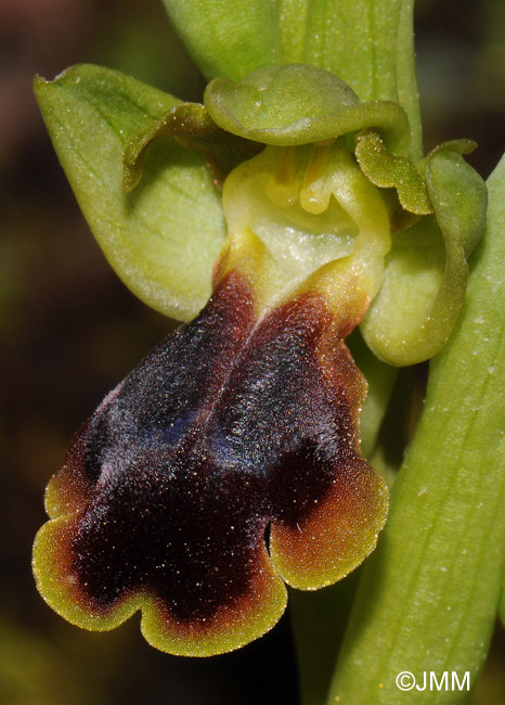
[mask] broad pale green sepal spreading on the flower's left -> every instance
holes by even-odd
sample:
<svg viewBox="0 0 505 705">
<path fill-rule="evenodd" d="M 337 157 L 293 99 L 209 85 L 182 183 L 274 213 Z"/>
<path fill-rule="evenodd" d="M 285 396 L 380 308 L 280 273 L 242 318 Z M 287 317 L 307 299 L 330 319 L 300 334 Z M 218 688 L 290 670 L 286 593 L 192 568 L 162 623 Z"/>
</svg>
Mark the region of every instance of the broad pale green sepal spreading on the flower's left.
<svg viewBox="0 0 505 705">
<path fill-rule="evenodd" d="M 224 240 L 220 195 L 205 157 L 169 138 L 150 151 L 144 179 L 122 189 L 122 154 L 139 131 L 178 104 L 119 72 L 74 66 L 35 92 L 54 148 L 93 234 L 144 303 L 191 319 L 210 294 Z"/>
</svg>

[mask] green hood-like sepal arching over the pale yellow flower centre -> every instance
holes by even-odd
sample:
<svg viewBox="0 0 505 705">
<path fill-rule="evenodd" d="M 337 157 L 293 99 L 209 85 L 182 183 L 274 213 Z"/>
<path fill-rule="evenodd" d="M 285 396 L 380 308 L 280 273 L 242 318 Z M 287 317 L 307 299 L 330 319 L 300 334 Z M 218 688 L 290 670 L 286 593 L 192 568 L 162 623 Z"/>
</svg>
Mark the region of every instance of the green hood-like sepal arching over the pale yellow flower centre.
<svg viewBox="0 0 505 705">
<path fill-rule="evenodd" d="M 315 66 L 266 66 L 238 84 L 216 78 L 204 102 L 224 130 L 266 144 L 309 144 L 375 127 L 390 152 L 409 151 L 409 120 L 398 103 L 360 103 L 347 84 Z"/>
</svg>

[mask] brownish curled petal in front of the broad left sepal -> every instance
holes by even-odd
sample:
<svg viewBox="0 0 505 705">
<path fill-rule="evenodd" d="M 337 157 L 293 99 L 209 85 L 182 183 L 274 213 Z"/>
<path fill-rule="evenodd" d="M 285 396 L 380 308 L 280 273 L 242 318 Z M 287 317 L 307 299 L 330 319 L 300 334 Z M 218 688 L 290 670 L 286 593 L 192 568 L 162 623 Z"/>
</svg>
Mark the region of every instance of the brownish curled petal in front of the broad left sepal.
<svg viewBox="0 0 505 705">
<path fill-rule="evenodd" d="M 183 146 L 202 152 L 208 159 L 215 181 L 220 185 L 233 168 L 261 149 L 256 142 L 244 140 L 218 127 L 204 105 L 180 103 L 128 143 L 124 157 L 126 191 L 130 192 L 139 184 L 146 150 L 160 137 L 172 137 Z"/>
</svg>

